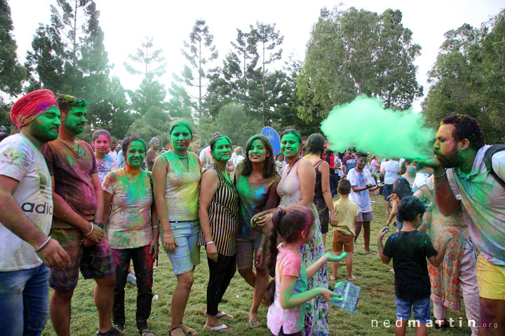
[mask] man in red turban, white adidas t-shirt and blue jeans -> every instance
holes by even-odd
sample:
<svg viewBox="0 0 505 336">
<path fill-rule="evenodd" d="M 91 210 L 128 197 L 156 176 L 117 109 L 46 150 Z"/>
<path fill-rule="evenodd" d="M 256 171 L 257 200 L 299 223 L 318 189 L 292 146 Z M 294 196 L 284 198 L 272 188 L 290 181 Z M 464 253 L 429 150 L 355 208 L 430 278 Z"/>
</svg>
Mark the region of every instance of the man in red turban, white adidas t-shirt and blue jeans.
<svg viewBox="0 0 505 336">
<path fill-rule="evenodd" d="M 16 102 L 11 120 L 20 134 L 0 144 L 0 332 L 40 335 L 49 314 L 49 267 L 70 262 L 48 237 L 53 218 L 51 179 L 42 144 L 58 137 L 60 110 L 50 90 Z M 45 265 L 44 265 L 45 264 Z"/>
</svg>

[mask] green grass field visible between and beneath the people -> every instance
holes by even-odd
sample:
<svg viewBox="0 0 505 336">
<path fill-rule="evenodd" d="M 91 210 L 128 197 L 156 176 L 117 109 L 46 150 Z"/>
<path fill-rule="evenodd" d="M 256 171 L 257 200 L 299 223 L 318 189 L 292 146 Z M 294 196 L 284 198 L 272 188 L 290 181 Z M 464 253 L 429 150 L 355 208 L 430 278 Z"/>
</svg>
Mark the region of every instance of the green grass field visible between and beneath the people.
<svg viewBox="0 0 505 336">
<path fill-rule="evenodd" d="M 372 204 L 375 221 L 372 221 L 372 234 L 370 248 L 377 251 L 377 233 L 386 223 L 386 213 L 382 197 L 373 196 Z M 331 232 L 330 232 L 331 233 Z M 386 237 L 384 237 L 385 242 Z M 331 251 L 331 235 L 326 240 L 327 251 Z M 184 323 L 198 331 L 198 335 L 217 335 L 219 332 L 210 332 L 203 329 L 206 318 L 203 311 L 206 309 L 206 286 L 208 281 L 208 268 L 205 250 L 201 250 L 201 265 L 196 267 L 195 281 L 189 297 Z M 331 267 L 328 263 L 328 267 Z M 363 237 L 360 235 L 356 242 L 354 254 L 354 270 L 356 281 L 361 287 L 361 297 L 358 302 L 356 314 L 336 308 L 330 304 L 329 325 L 330 335 L 394 335 L 395 296 L 393 286 L 393 273 L 387 272 L 392 265 L 384 265 L 378 255 L 363 253 Z M 345 266 L 339 267 L 339 278 L 346 278 Z M 330 281 L 332 286 L 335 281 Z M 159 300 L 153 300 L 152 314 L 149 318 L 149 328 L 156 335 L 168 335 L 170 326 L 170 298 L 175 288 L 176 279 L 170 266 L 170 260 L 165 253 L 160 254 L 159 267 L 154 270 L 153 294 L 159 295 Z M 71 335 L 95 335 L 97 331 L 97 313 L 93 303 L 94 281 L 80 279 L 74 298 L 72 300 Z M 126 286 L 126 335 L 138 335 L 135 328 L 135 304 L 137 288 L 130 283 Z M 250 328 L 248 325 L 248 312 L 253 297 L 253 290 L 245 283 L 238 272 L 224 295 L 220 309 L 234 316 L 233 319 L 223 319 L 227 325 L 235 328 L 235 332 L 228 335 L 263 336 L 270 335 L 266 328 L 267 308 L 260 307 L 259 318 L 262 322 L 260 328 Z M 433 318 L 433 309 L 431 316 Z M 454 328 L 436 330 L 429 328 L 429 335 L 470 335 L 471 330 L 466 325 L 464 310 L 448 311 L 448 316 L 454 318 Z M 459 327 L 462 318 L 462 327 Z M 377 320 L 377 326 L 375 322 Z M 387 321 L 390 322 L 389 328 Z M 434 318 L 433 318 L 434 321 Z M 372 326 L 373 325 L 373 326 Z M 50 321 L 43 335 L 55 335 Z M 408 328 L 407 335 L 415 335 L 415 328 Z"/>
</svg>

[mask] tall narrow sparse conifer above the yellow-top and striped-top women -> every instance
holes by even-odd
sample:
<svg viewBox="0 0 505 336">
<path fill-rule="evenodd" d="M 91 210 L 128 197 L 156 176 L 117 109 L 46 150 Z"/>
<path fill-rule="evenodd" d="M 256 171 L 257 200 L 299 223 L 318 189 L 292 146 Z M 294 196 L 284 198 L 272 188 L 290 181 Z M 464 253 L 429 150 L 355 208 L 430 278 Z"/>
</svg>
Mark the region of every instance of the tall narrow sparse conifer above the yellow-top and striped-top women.
<svg viewBox="0 0 505 336">
<path fill-rule="evenodd" d="M 214 36 L 209 33 L 205 20 L 196 20 L 193 31 L 189 34 L 189 42 L 184 41 L 185 49 L 181 50 L 182 55 L 189 61 L 189 66 L 184 66 L 182 78 L 187 85 L 198 88 L 198 117 L 203 116 L 203 88 L 206 85 L 202 80 L 206 78 L 207 72 L 204 66 L 217 58 L 213 39 Z"/>
</svg>

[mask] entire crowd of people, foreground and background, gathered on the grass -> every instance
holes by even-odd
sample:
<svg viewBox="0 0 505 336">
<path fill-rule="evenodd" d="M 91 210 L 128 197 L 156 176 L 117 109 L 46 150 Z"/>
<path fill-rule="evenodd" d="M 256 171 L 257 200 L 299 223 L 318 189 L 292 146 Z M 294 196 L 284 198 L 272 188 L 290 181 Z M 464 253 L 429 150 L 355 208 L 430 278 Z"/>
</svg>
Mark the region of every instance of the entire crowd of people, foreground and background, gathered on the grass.
<svg viewBox="0 0 505 336">
<path fill-rule="evenodd" d="M 377 193 L 389 216 L 377 245 L 382 262 L 393 260 L 396 335 L 405 335 L 412 311 L 416 335 L 426 335 L 431 302 L 434 327 L 446 328 L 447 308 L 461 309 L 461 299 L 472 335 L 505 335 L 505 146 L 486 145 L 473 118 L 443 118 L 435 158 L 381 160 L 362 148 L 334 153 L 323 135 L 303 141 L 292 129 L 283 132 L 279 153 L 261 134 L 242 148 L 215 132 L 200 149 L 184 120 L 157 134 L 161 140 L 131 135 L 119 142 L 96 130 L 88 144 L 79 139 L 86 106 L 79 97 L 30 92 L 11 109 L 20 133 L 0 139 L 6 335 L 40 335 L 48 316 L 57 335 L 69 335 L 80 270 L 95 280 L 97 335 L 123 335 L 132 277 L 137 330 L 153 336 L 147 321 L 159 241 L 177 278 L 168 335 L 197 335 L 183 319 L 201 246 L 208 267 L 203 328 L 234 331 L 222 323 L 233 316 L 219 308 L 238 269 L 253 290 L 250 328 L 330 335 L 328 304 L 342 298 L 329 280 L 342 262 L 346 280 L 356 280 L 362 230 L 365 255 L 377 254 L 370 249 L 370 195 Z M 267 321 L 258 317 L 262 302 Z"/>
</svg>

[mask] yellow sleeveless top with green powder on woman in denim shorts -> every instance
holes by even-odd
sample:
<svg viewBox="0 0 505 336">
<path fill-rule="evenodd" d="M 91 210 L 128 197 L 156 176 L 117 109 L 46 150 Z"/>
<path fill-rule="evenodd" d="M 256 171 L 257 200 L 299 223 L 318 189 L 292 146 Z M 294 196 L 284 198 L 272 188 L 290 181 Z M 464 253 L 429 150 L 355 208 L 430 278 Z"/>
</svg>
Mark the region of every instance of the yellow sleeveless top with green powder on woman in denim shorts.
<svg viewBox="0 0 505 336">
<path fill-rule="evenodd" d="M 198 220 L 200 165 L 195 153 L 187 154 L 188 169 L 173 151 L 163 153 L 169 165 L 165 180 L 168 221 Z"/>
</svg>

